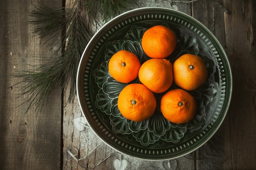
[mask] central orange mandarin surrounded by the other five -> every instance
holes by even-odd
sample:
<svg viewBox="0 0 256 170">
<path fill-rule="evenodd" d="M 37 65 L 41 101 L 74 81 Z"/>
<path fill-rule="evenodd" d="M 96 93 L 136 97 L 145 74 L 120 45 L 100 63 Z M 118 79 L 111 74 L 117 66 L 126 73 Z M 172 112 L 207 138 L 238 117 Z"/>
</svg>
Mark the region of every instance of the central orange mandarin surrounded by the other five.
<svg viewBox="0 0 256 170">
<path fill-rule="evenodd" d="M 166 59 L 150 59 L 139 68 L 139 80 L 154 93 L 166 91 L 173 83 L 172 64 Z"/>
</svg>

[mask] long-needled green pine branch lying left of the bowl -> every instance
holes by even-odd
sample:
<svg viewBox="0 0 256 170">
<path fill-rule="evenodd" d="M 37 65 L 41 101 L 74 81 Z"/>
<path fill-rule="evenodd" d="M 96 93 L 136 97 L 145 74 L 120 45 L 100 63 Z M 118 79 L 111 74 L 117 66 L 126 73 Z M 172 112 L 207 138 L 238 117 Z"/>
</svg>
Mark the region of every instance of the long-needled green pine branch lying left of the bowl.
<svg viewBox="0 0 256 170">
<path fill-rule="evenodd" d="M 136 0 L 76 0 L 73 8 L 52 9 L 43 0 L 39 0 L 34 5 L 35 10 L 29 11 L 29 15 L 33 17 L 29 23 L 35 26 L 33 33 L 45 39 L 47 46 L 61 35 L 62 46 L 52 56 L 42 57 L 45 64 L 13 75 L 23 78 L 14 86 L 25 84 L 18 87 L 21 91 L 18 97 L 29 95 L 29 99 L 22 103 L 28 103 L 25 113 L 33 106 L 36 113 L 41 112 L 52 90 L 61 87 L 63 91 L 69 81 L 69 101 L 73 101 L 79 61 L 93 35 L 91 23 L 100 25 L 107 22 L 134 4 L 137 4 Z"/>
</svg>

